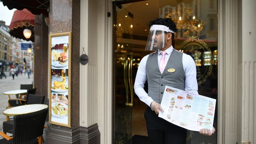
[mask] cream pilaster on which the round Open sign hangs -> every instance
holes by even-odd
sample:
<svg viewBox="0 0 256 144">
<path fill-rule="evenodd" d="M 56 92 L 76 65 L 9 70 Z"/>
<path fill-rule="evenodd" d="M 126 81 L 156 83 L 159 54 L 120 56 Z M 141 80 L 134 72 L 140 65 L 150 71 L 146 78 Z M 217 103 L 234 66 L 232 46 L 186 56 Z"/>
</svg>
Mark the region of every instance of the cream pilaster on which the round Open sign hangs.
<svg viewBox="0 0 256 144">
<path fill-rule="evenodd" d="M 80 126 L 97 123 L 97 2 L 81 0 L 80 55 L 88 55 L 88 63 L 80 64 Z"/>
</svg>

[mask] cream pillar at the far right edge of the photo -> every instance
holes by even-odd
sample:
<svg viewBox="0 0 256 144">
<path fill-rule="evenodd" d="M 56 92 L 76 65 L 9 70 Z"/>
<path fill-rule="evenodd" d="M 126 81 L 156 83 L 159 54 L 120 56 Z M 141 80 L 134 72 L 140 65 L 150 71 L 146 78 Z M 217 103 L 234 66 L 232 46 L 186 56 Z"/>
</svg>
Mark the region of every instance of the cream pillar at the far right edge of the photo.
<svg viewBox="0 0 256 144">
<path fill-rule="evenodd" d="M 242 141 L 256 143 L 256 1 L 242 0 Z"/>
</svg>

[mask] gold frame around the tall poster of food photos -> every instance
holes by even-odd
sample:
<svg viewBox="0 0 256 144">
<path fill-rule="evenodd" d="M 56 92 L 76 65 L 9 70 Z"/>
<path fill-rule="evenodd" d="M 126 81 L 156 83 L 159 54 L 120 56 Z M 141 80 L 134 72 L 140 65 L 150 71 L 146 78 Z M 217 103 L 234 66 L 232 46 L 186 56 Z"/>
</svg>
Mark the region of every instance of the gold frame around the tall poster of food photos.
<svg viewBox="0 0 256 144">
<path fill-rule="evenodd" d="M 68 36 L 68 124 L 64 124 L 64 123 L 59 123 L 59 122 L 53 122 L 51 121 L 52 118 L 52 98 L 51 98 L 51 79 L 52 79 L 52 74 L 51 74 L 51 69 L 52 69 L 52 63 L 51 63 L 51 45 L 52 45 L 52 37 L 57 37 L 57 36 Z M 65 32 L 65 33 L 56 33 L 56 34 L 49 34 L 49 68 L 48 70 L 50 70 L 50 74 L 49 74 L 49 85 L 48 85 L 48 89 L 49 89 L 49 123 L 54 124 L 54 125 L 59 125 L 59 126 L 64 126 L 64 127 L 69 127 L 71 128 L 71 57 L 72 57 L 72 53 L 71 53 L 71 45 L 72 45 L 72 32 Z"/>
</svg>

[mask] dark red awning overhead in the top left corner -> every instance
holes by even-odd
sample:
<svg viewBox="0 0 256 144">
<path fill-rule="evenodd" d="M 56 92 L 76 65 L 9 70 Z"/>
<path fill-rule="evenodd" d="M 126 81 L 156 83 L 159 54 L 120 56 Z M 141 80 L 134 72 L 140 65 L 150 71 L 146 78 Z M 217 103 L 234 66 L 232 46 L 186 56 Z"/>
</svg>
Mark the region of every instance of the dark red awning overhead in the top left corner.
<svg viewBox="0 0 256 144">
<path fill-rule="evenodd" d="M 50 8 L 50 0 L 0 0 L 8 9 L 23 10 L 28 9 L 35 15 L 41 13 L 48 16 L 48 9 Z"/>
</svg>

